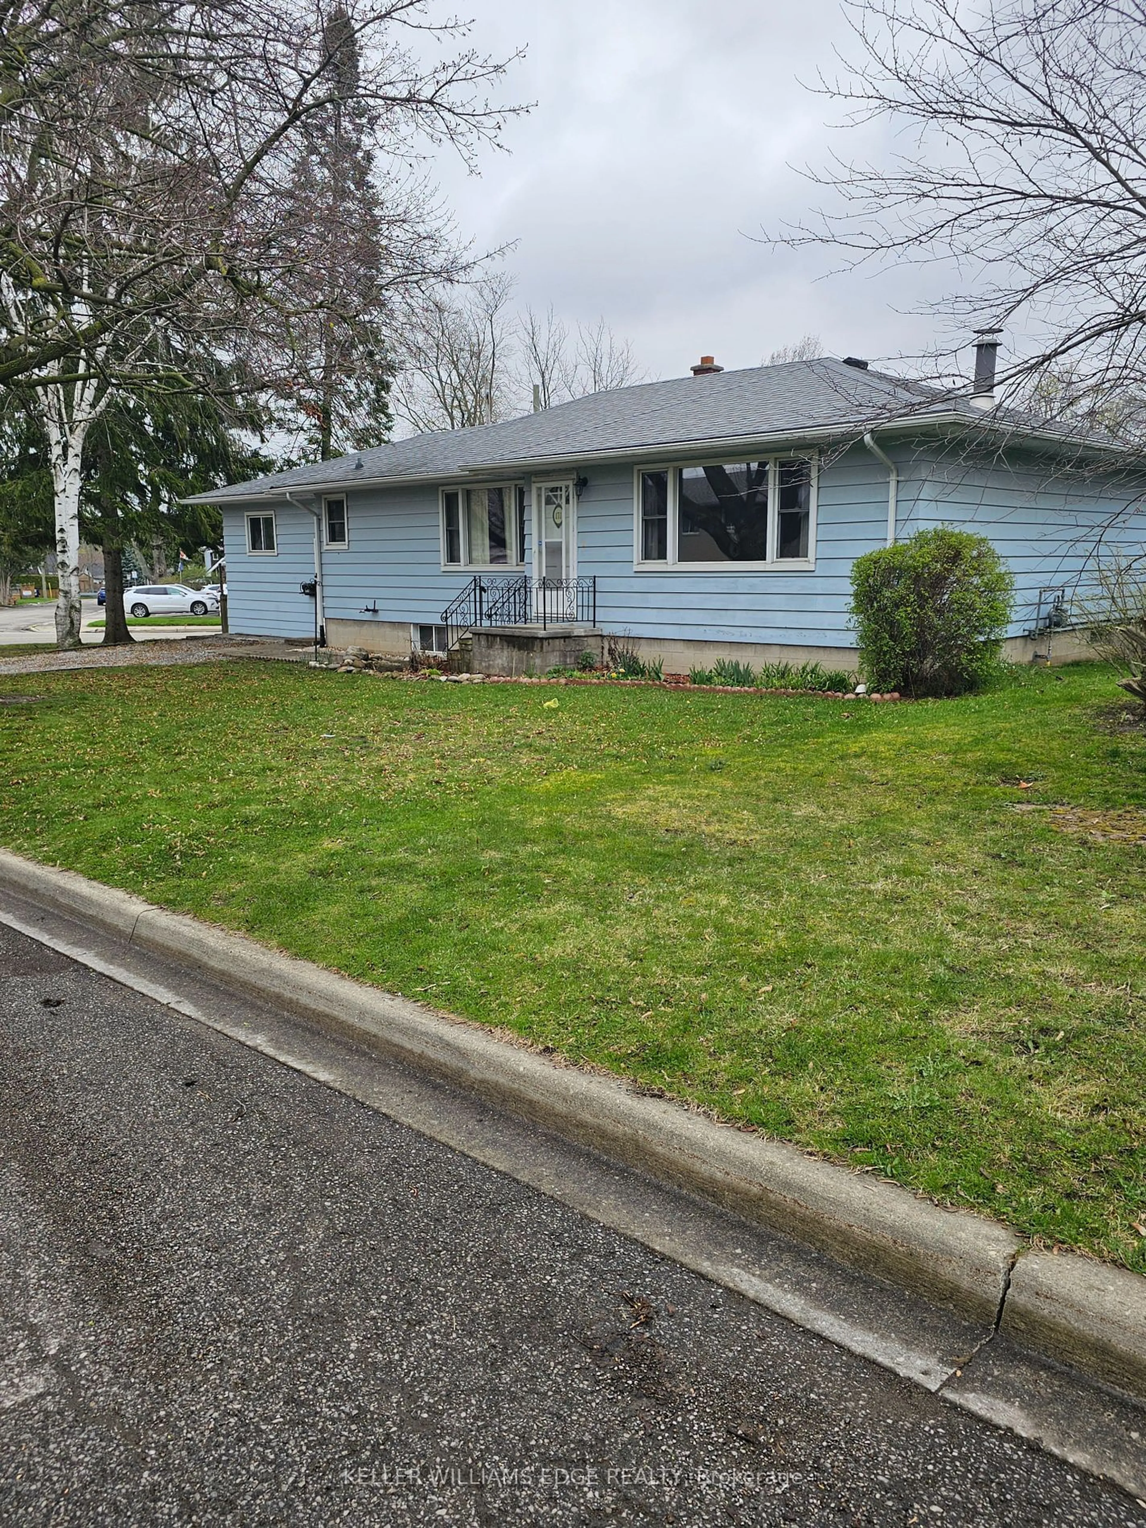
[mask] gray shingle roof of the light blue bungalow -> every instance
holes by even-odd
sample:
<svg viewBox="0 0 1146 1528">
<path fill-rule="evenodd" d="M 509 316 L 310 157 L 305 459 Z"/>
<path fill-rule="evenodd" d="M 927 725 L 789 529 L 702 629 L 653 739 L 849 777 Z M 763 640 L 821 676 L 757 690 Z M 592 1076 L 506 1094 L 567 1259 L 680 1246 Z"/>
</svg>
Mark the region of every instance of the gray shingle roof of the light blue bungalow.
<svg viewBox="0 0 1146 1528">
<path fill-rule="evenodd" d="M 500 425 L 396 440 L 361 452 L 361 469 L 356 457 L 338 457 L 197 498 L 220 503 L 348 480 L 449 478 L 483 465 L 529 471 L 532 463 L 578 454 L 601 457 L 691 442 L 857 431 L 892 419 L 952 413 L 969 423 L 984 420 L 966 397 L 918 382 L 828 358 L 790 361 L 593 393 Z"/>
</svg>

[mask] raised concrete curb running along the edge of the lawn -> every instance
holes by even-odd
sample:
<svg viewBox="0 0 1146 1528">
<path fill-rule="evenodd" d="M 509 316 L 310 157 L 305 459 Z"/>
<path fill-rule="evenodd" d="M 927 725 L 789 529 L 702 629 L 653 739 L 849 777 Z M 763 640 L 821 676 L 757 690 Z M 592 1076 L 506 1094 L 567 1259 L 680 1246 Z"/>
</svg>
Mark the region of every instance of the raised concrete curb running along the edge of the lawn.
<svg viewBox="0 0 1146 1528">
<path fill-rule="evenodd" d="M 238 934 L 0 850 L 0 888 L 779 1230 L 1146 1398 L 1146 1279 L 718 1125 Z"/>
</svg>

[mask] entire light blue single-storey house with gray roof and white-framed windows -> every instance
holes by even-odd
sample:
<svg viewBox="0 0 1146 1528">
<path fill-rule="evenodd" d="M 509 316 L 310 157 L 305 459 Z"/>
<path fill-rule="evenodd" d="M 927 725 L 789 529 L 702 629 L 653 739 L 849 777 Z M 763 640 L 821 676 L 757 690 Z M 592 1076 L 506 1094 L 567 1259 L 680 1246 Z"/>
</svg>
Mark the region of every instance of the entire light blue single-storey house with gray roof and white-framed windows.
<svg viewBox="0 0 1146 1528">
<path fill-rule="evenodd" d="M 856 660 L 853 561 L 924 526 L 990 538 L 1008 652 L 1068 622 L 1096 549 L 1146 539 L 1117 452 L 995 408 L 996 339 L 960 396 L 796 361 L 596 393 L 199 495 L 223 510 L 229 625 L 405 656 L 474 634 L 544 669 L 602 636 L 669 671 Z M 1079 651 L 1068 634 L 1056 656 Z"/>
</svg>

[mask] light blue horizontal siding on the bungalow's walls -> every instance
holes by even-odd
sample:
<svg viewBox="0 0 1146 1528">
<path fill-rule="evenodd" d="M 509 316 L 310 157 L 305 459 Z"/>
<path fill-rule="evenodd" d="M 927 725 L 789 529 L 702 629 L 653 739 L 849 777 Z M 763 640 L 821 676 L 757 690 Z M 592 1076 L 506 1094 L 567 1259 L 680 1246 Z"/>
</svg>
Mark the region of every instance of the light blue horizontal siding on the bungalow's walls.
<svg viewBox="0 0 1146 1528">
<path fill-rule="evenodd" d="M 1131 490 L 1054 478 L 1033 458 L 967 461 L 905 445 L 898 533 L 950 524 L 992 539 L 1016 578 L 1013 633 L 1027 630 L 1041 585 L 1076 587 L 1106 544 L 1140 549 L 1146 516 L 1125 510 Z M 597 620 L 648 640 L 851 645 L 851 565 L 885 544 L 888 474 L 862 446 L 825 460 L 819 475 L 816 567 L 743 573 L 735 567 L 636 571 L 633 469 L 594 466 L 578 503 L 578 571 L 597 579 Z M 313 605 L 299 594 L 313 576 L 313 521 L 277 506 L 278 556 L 251 556 L 241 513 L 225 515 L 232 630 L 309 636 Z M 434 486 L 362 489 L 348 495 L 348 547 L 324 549 L 329 619 L 437 622 L 466 587 L 468 571 L 440 567 Z M 507 570 L 513 571 L 513 570 Z"/>
</svg>

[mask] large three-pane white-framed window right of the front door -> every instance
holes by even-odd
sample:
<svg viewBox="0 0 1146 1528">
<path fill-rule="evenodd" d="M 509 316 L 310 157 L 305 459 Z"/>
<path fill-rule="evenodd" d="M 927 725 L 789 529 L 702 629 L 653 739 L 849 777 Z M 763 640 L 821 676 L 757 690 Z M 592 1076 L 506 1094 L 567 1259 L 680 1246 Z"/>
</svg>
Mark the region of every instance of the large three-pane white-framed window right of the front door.
<svg viewBox="0 0 1146 1528">
<path fill-rule="evenodd" d="M 816 487 L 811 455 L 639 468 L 636 568 L 811 568 Z"/>
</svg>

